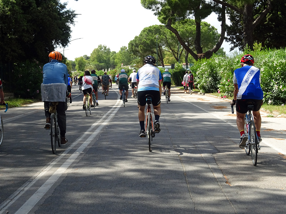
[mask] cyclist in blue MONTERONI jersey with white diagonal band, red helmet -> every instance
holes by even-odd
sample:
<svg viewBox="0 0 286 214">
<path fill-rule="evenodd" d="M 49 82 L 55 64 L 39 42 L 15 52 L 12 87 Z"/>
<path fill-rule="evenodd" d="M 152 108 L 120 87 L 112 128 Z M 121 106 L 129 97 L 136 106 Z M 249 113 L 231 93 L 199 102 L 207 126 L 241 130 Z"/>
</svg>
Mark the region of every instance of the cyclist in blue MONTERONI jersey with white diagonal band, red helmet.
<svg viewBox="0 0 286 214">
<path fill-rule="evenodd" d="M 239 147 L 244 148 L 248 139 L 244 132 L 244 117 L 247 113 L 246 102 L 252 100 L 255 102 L 253 108 L 253 119 L 256 128 L 258 141 L 261 142 L 260 128 L 261 128 L 261 116 L 259 109 L 263 102 L 263 91 L 260 87 L 260 70 L 253 66 L 253 56 L 247 54 L 241 58 L 241 68 L 237 68 L 233 73 L 233 83 L 235 86 L 233 92 L 233 100 L 231 105 L 236 104 L 236 123 L 240 132 Z"/>
</svg>

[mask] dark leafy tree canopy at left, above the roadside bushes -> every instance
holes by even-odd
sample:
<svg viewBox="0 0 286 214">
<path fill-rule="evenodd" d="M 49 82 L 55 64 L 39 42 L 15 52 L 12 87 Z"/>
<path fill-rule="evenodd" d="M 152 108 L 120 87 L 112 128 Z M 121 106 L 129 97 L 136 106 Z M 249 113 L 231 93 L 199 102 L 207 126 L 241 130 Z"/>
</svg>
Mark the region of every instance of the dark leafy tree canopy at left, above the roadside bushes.
<svg viewBox="0 0 286 214">
<path fill-rule="evenodd" d="M 76 14 L 67 3 L 47 1 L 0 1 L 0 62 L 18 62 L 37 58 L 65 46 Z"/>
</svg>

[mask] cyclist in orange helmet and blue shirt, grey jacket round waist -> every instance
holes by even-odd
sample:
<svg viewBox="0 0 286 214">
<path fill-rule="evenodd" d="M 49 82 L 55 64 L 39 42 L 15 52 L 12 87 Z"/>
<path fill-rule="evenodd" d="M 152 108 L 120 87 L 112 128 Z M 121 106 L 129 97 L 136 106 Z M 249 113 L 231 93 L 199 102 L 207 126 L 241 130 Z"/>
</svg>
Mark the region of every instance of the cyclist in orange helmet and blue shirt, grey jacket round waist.
<svg viewBox="0 0 286 214">
<path fill-rule="evenodd" d="M 65 97 L 67 94 L 67 66 L 59 61 L 62 60 L 61 53 L 52 51 L 49 53 L 49 62 L 43 66 L 43 83 L 41 84 L 42 100 L 46 116 L 45 129 L 51 128 L 51 113 L 49 113 L 49 103 L 58 102 L 57 121 L 61 134 L 61 144 L 66 144 L 66 115 L 67 103 Z"/>
</svg>

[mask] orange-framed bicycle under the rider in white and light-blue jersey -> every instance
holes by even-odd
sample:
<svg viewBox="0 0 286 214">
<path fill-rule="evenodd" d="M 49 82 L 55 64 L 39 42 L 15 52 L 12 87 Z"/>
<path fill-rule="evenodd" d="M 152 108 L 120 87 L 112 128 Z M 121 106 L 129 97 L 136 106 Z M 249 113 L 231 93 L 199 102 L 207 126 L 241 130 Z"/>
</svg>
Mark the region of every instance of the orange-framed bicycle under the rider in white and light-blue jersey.
<svg viewBox="0 0 286 214">
<path fill-rule="evenodd" d="M 147 132 L 149 152 L 151 152 L 151 141 L 155 137 L 153 120 L 152 120 L 152 109 L 151 109 L 151 102 L 152 102 L 153 96 L 151 94 L 147 94 L 145 97 L 146 97 L 146 102 L 147 102 L 145 130 Z"/>
</svg>

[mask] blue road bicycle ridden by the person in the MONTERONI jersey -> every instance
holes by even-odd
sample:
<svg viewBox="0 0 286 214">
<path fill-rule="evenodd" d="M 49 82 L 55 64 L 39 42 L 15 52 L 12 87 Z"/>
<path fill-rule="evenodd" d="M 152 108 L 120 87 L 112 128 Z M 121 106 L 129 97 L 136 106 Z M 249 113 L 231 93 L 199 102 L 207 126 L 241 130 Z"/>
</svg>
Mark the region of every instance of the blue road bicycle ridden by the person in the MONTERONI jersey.
<svg viewBox="0 0 286 214">
<path fill-rule="evenodd" d="M 244 130 L 245 130 L 245 133 L 247 133 L 248 135 L 248 140 L 246 142 L 246 146 L 244 150 L 247 155 L 251 154 L 252 163 L 254 166 L 256 166 L 257 154 L 258 154 L 258 150 L 260 150 L 260 146 L 259 146 L 258 137 L 256 134 L 256 128 L 255 128 L 255 124 L 253 121 L 253 116 L 251 113 L 255 105 L 255 102 L 247 101 L 246 105 L 247 105 L 248 112 L 245 114 L 245 117 L 244 117 L 244 121 L 245 121 Z M 231 106 L 231 113 L 234 113 L 233 106 Z"/>
</svg>

